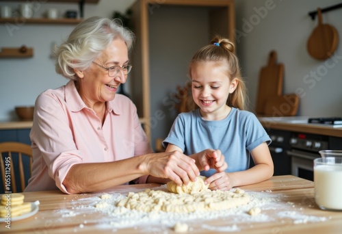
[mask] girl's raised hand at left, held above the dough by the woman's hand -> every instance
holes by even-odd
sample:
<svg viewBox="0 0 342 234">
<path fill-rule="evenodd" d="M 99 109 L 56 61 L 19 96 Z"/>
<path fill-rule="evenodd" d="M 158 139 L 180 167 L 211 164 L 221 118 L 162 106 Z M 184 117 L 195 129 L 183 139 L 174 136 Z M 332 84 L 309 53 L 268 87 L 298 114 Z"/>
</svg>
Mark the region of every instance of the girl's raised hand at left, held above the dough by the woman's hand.
<svg viewBox="0 0 342 234">
<path fill-rule="evenodd" d="M 199 168 L 203 170 L 209 170 L 210 168 L 215 169 L 218 172 L 223 172 L 228 168 L 224 155 L 220 150 L 213 150 L 211 148 L 201 151 L 197 154 Z"/>
</svg>

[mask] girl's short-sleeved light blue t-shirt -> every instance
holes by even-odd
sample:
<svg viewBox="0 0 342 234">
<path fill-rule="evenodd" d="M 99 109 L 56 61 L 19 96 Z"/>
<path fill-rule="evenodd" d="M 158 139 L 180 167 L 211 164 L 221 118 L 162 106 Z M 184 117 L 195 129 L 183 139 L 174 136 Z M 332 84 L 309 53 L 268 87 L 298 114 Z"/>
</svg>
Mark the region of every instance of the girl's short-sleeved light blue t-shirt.
<svg viewBox="0 0 342 234">
<path fill-rule="evenodd" d="M 200 109 L 181 113 L 174 120 L 168 138 L 163 146 L 174 144 L 185 155 L 192 155 L 207 148 L 220 149 L 226 159 L 226 172 L 247 170 L 250 165 L 250 151 L 271 139 L 257 117 L 251 112 L 232 107 L 231 113 L 223 120 L 204 120 Z M 202 171 L 210 177 L 216 170 Z"/>
</svg>

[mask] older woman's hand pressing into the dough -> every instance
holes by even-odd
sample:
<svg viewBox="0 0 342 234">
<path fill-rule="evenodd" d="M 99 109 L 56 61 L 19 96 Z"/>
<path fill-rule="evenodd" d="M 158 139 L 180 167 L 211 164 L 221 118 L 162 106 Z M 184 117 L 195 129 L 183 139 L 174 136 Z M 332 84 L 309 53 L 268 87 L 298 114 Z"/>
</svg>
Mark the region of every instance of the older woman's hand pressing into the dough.
<svg viewBox="0 0 342 234">
<path fill-rule="evenodd" d="M 187 185 L 200 174 L 196 161 L 180 151 L 156 153 L 146 161 L 148 173 L 153 177 L 168 178 L 177 185 Z"/>
</svg>

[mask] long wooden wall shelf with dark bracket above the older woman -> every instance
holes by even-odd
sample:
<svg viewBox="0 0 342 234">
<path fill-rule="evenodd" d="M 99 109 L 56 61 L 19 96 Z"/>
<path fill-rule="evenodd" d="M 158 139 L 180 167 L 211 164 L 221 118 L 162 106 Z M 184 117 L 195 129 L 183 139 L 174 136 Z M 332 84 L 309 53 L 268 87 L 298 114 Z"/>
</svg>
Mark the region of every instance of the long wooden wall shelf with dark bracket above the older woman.
<svg viewBox="0 0 342 234">
<path fill-rule="evenodd" d="M 6 0 L 0 0 L 6 1 Z M 16 0 L 18 3 L 28 2 L 27 0 Z M 80 23 L 83 19 L 83 4 L 84 3 L 92 3 L 96 4 L 99 0 L 49 0 L 49 3 L 78 3 L 79 4 L 79 12 L 81 18 L 0 18 L 0 23 L 14 23 L 14 24 L 22 24 L 22 23 L 31 23 L 31 24 L 77 24 Z M 32 4 L 39 4 L 32 1 Z"/>
</svg>

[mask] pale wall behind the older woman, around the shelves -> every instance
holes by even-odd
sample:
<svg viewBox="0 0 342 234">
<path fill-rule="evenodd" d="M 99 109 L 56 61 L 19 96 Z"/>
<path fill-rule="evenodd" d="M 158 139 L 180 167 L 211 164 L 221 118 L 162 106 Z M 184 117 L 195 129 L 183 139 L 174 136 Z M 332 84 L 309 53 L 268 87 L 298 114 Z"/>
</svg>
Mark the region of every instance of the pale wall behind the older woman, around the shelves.
<svg viewBox="0 0 342 234">
<path fill-rule="evenodd" d="M 134 0 L 100 0 L 98 4 L 86 4 L 84 18 L 90 16 L 113 16 L 114 11 L 124 12 Z M 79 10 L 77 3 L 49 3 L 49 1 L 29 1 L 35 3 L 34 17 L 41 17 L 48 8 L 57 8 L 61 14 L 66 10 Z M 42 2 L 41 4 L 38 4 Z M 44 3 L 45 2 L 45 3 Z M 22 2 L 0 1 L 13 10 Z M 18 26 L 18 27 L 16 27 Z M 12 25 L 10 30 L 0 24 L 0 48 L 21 47 L 25 44 L 34 49 L 31 58 L 0 58 L 0 121 L 14 120 L 14 106 L 34 105 L 40 92 L 57 88 L 68 80 L 55 73 L 51 59 L 51 47 L 60 44 L 70 34 L 75 25 Z"/>
</svg>

